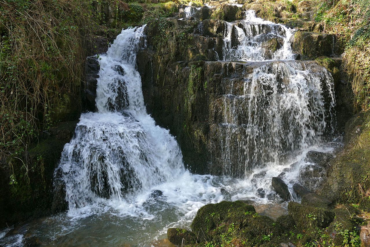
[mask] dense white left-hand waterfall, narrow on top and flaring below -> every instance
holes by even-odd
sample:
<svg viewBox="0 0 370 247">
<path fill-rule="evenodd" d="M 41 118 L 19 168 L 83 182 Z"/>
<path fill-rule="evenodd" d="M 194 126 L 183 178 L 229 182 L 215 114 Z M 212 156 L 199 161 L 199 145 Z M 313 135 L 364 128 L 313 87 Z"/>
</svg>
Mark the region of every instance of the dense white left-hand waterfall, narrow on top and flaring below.
<svg viewBox="0 0 370 247">
<path fill-rule="evenodd" d="M 145 26 L 122 30 L 100 55 L 96 105 L 64 146 L 59 168 L 70 211 L 104 199 L 122 200 L 185 172 L 169 131 L 144 106 L 136 53 Z"/>
</svg>

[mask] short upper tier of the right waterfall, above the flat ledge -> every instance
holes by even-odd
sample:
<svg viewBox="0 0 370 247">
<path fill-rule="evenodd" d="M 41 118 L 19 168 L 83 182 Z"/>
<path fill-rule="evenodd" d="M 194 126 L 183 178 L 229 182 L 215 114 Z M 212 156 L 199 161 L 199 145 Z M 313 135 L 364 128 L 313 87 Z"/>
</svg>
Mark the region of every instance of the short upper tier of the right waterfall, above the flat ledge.
<svg viewBox="0 0 370 247">
<path fill-rule="evenodd" d="M 216 60 L 265 61 L 293 60 L 290 47 L 293 30 L 256 17 L 254 10 L 244 12 L 240 21 L 204 20 L 195 34 L 222 39 L 222 49 L 213 49 Z M 221 47 L 220 47 L 221 48 Z"/>
</svg>

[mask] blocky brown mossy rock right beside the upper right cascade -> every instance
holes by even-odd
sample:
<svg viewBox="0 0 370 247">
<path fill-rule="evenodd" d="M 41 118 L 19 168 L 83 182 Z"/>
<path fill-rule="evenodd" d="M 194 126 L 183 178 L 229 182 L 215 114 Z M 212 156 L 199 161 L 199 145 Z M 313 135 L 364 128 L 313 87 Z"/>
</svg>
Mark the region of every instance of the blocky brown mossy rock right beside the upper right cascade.
<svg viewBox="0 0 370 247">
<path fill-rule="evenodd" d="M 335 36 L 313 32 L 296 32 L 292 38 L 292 49 L 303 56 L 316 58 L 331 56 L 334 52 Z"/>
</svg>

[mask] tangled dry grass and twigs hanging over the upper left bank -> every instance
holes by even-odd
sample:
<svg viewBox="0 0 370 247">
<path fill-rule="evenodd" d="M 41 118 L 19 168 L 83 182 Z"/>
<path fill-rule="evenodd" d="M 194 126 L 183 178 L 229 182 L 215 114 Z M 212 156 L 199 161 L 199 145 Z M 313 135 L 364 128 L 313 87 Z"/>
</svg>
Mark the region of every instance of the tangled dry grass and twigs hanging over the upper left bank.
<svg viewBox="0 0 370 247">
<path fill-rule="evenodd" d="M 0 0 L 0 151 L 49 128 L 63 94 L 77 93 L 91 1 Z"/>
</svg>

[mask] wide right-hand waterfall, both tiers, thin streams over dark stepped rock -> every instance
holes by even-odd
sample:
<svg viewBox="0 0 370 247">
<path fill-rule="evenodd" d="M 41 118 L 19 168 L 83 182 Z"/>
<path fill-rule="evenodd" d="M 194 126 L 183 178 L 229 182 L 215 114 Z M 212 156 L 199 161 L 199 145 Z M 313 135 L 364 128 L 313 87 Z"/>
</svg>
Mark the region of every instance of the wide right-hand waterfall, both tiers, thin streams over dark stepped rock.
<svg viewBox="0 0 370 247">
<path fill-rule="evenodd" d="M 253 10 L 245 11 L 242 21 L 224 25 L 220 60 L 258 63 L 243 78 L 242 88 L 231 82 L 223 95 L 219 125 L 223 135 L 215 138 L 222 149 L 222 173 L 249 177 L 268 164 L 289 163 L 320 145 L 324 135 L 333 135 L 333 78 L 314 62 L 294 60 L 290 47 L 294 30 L 260 19 Z M 268 42 L 276 46 L 273 53 L 266 47 Z M 286 182 L 296 181 L 298 175 Z"/>
</svg>

